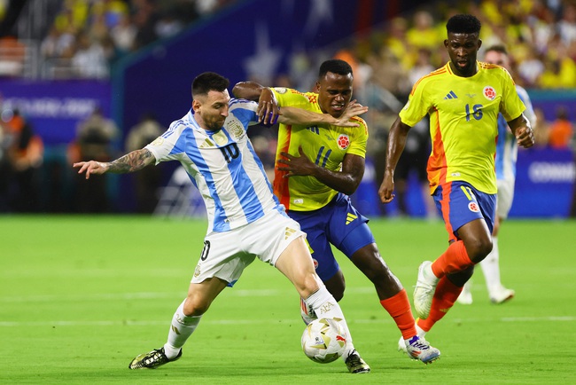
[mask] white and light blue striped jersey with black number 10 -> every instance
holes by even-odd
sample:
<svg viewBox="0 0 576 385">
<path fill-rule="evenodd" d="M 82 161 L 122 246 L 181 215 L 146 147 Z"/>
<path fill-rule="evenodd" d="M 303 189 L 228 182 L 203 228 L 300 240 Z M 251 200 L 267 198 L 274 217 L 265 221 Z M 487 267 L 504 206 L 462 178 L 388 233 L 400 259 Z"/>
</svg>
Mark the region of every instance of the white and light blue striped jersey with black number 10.
<svg viewBox="0 0 576 385">
<path fill-rule="evenodd" d="M 191 110 L 145 146 L 156 164 L 182 163 L 206 204 L 208 233 L 249 224 L 270 210 L 284 213 L 246 134 L 248 126 L 258 120 L 258 104 L 232 98 L 229 106 L 220 130 L 202 129 Z"/>
</svg>

